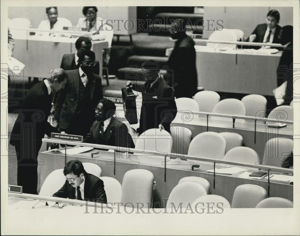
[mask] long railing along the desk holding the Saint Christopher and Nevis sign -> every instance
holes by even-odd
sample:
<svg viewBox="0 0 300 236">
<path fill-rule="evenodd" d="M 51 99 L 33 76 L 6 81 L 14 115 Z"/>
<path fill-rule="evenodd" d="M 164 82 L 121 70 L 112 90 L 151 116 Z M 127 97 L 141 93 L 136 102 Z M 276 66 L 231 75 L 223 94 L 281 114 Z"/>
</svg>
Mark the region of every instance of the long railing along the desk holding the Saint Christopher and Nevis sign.
<svg viewBox="0 0 300 236">
<path fill-rule="evenodd" d="M 114 153 L 115 153 L 115 159 L 116 159 L 116 152 L 118 152 L 118 151 L 124 152 L 124 149 L 125 149 L 124 147 L 107 146 L 107 145 L 94 144 L 94 143 L 79 143 L 79 142 L 71 142 L 71 141 L 48 139 L 48 138 L 43 138 L 42 141 L 46 142 L 46 143 L 60 143 L 60 144 L 65 144 L 65 145 L 80 145 L 80 146 L 93 147 L 93 148 L 98 148 L 98 149 L 112 149 L 112 150 L 114 150 Z M 172 157 L 172 159 L 184 158 L 184 161 L 188 161 L 188 160 L 206 161 L 206 162 L 219 163 L 219 164 L 228 164 L 228 165 L 235 165 L 235 166 L 238 165 L 238 166 L 242 166 L 242 167 L 250 167 L 250 168 L 255 168 L 255 169 L 264 169 L 264 170 L 269 170 L 269 171 L 279 171 L 279 172 L 284 172 L 284 173 L 289 173 L 289 174 L 293 173 L 293 170 L 291 170 L 291 169 L 287 169 L 287 168 L 283 168 L 283 167 L 267 166 L 267 165 L 262 165 L 262 164 L 253 165 L 253 164 L 247 164 L 247 163 L 241 163 L 241 162 L 223 161 L 223 160 L 219 160 L 219 159 L 197 157 L 197 156 L 184 155 L 184 154 L 178 154 L 178 153 L 153 152 L 153 151 L 148 151 L 148 150 L 143 150 L 143 149 L 135 149 L 135 148 L 126 148 L 126 151 L 131 152 L 131 153 L 143 153 L 143 154 L 148 154 L 148 155 L 164 156 L 165 162 L 167 161 L 166 160 L 167 157 Z"/>
</svg>

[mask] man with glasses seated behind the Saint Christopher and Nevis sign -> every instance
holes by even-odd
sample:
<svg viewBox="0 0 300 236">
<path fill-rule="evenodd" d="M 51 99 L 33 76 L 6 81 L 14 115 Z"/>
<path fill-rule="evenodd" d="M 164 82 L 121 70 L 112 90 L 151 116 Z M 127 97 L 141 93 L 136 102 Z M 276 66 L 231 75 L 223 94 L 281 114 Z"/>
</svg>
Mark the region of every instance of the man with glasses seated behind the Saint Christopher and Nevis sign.
<svg viewBox="0 0 300 236">
<path fill-rule="evenodd" d="M 134 148 L 127 126 L 115 118 L 115 113 L 116 105 L 109 99 L 102 99 L 95 110 L 96 121 L 84 142 Z"/>
</svg>

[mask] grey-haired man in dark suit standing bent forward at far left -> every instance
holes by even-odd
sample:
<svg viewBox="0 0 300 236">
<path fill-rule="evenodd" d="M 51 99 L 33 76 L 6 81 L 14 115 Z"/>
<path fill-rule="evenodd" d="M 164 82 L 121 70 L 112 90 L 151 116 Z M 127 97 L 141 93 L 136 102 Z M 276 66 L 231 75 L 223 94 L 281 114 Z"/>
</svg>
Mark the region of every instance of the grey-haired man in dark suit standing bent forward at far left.
<svg viewBox="0 0 300 236">
<path fill-rule="evenodd" d="M 37 194 L 38 185 L 38 152 L 42 138 L 58 129 L 48 122 L 51 109 L 51 93 L 64 88 L 67 73 L 61 69 L 52 70 L 48 78 L 35 84 L 26 94 L 18 111 L 10 144 L 15 146 L 18 165 L 18 185 L 23 186 L 23 193 Z"/>
</svg>

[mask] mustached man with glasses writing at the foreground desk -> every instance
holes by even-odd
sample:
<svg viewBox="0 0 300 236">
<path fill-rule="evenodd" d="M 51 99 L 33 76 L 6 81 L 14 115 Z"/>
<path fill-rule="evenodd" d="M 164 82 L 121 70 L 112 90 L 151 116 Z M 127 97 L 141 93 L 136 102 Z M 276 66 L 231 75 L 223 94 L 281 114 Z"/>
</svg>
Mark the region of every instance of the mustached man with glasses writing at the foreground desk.
<svg viewBox="0 0 300 236">
<path fill-rule="evenodd" d="M 66 181 L 53 197 L 107 203 L 103 181 L 87 173 L 79 160 L 68 161 L 64 167 Z"/>
</svg>

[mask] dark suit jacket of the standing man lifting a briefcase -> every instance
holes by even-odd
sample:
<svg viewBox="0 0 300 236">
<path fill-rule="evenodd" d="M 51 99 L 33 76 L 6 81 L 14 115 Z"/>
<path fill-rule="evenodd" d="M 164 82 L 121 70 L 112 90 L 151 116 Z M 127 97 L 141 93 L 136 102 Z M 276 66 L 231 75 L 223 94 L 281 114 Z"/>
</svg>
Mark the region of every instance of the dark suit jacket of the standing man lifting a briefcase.
<svg viewBox="0 0 300 236">
<path fill-rule="evenodd" d="M 152 88 L 147 85 L 134 84 L 132 89 L 142 93 L 142 107 L 140 114 L 139 135 L 151 128 L 158 128 L 161 124 L 170 133 L 170 124 L 177 114 L 174 100 L 174 90 L 162 79 Z M 146 91 L 144 88 L 146 87 Z"/>
</svg>

